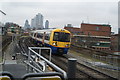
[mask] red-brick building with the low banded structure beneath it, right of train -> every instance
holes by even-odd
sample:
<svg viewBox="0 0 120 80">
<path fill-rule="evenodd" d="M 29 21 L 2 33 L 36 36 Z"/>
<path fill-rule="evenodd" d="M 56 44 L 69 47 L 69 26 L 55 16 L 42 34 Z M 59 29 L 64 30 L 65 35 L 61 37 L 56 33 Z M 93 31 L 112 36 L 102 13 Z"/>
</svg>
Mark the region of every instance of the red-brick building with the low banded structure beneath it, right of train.
<svg viewBox="0 0 120 80">
<path fill-rule="evenodd" d="M 82 23 L 81 28 L 65 26 L 73 34 L 72 44 L 96 50 L 109 51 L 111 26 L 108 24 Z"/>
</svg>

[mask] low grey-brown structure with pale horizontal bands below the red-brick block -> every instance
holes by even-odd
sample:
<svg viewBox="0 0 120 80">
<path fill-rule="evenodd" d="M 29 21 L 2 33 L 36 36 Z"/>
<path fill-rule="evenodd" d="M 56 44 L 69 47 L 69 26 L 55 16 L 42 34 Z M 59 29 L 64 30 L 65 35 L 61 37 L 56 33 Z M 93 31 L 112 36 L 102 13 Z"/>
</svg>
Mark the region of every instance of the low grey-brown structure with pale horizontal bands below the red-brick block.
<svg viewBox="0 0 120 80">
<path fill-rule="evenodd" d="M 85 48 L 109 51 L 110 38 L 105 36 L 73 35 L 71 43 Z"/>
</svg>

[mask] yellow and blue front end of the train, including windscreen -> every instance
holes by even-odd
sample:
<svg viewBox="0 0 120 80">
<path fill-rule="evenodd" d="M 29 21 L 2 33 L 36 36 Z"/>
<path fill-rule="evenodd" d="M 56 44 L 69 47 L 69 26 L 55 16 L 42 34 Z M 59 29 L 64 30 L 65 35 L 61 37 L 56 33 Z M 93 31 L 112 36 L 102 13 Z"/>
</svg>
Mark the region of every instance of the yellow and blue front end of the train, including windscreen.
<svg viewBox="0 0 120 80">
<path fill-rule="evenodd" d="M 67 54 L 70 47 L 70 32 L 65 29 L 53 30 L 50 45 L 53 54 Z"/>
</svg>

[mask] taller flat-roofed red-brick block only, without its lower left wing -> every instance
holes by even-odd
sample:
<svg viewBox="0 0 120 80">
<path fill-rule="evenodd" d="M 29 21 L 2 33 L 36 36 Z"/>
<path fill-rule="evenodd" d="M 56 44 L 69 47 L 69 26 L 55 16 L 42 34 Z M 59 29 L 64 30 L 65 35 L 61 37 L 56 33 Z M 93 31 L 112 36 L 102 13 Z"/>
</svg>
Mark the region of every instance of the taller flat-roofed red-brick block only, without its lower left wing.
<svg viewBox="0 0 120 80">
<path fill-rule="evenodd" d="M 107 24 L 81 24 L 81 30 L 85 35 L 92 36 L 110 36 L 111 27 Z"/>
</svg>

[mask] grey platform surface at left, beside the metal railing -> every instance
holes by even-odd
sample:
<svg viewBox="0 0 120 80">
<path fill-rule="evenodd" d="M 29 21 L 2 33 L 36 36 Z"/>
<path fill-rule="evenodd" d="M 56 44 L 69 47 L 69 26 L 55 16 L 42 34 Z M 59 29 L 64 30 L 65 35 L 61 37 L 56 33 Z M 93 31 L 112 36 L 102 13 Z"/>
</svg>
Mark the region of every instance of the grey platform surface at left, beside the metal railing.
<svg viewBox="0 0 120 80">
<path fill-rule="evenodd" d="M 16 42 L 13 41 L 7 47 L 5 51 L 4 65 L 2 66 L 2 71 L 8 71 L 13 74 L 15 78 L 21 78 L 24 74 L 27 73 L 25 65 L 19 64 L 19 59 L 13 59 L 13 55 L 18 52 L 16 47 Z"/>
</svg>

